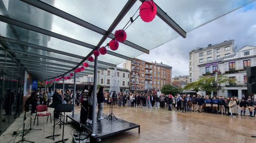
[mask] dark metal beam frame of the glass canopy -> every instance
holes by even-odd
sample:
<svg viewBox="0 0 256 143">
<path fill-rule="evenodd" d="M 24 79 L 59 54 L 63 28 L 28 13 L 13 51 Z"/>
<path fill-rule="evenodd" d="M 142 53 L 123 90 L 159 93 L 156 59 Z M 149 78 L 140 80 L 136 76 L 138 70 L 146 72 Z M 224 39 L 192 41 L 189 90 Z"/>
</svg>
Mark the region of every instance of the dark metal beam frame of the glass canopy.
<svg viewBox="0 0 256 143">
<path fill-rule="evenodd" d="M 34 67 L 36 67 L 36 68 L 41 67 L 43 69 L 55 69 L 55 71 L 59 71 L 61 73 L 65 72 L 65 73 L 62 73 L 61 75 L 66 75 L 69 72 L 73 72 L 74 69 L 77 69 L 83 62 L 86 61 L 86 59 L 89 56 L 91 56 L 93 54 L 93 51 L 95 49 L 98 49 L 106 41 L 107 38 L 111 38 L 111 39 L 115 38 L 114 34 L 111 33 L 111 32 L 113 32 L 113 30 L 116 28 L 116 26 L 119 24 L 119 22 L 121 22 L 121 20 L 124 18 L 126 13 L 129 12 L 131 7 L 135 4 L 135 2 L 137 2 L 136 0 L 129 0 L 129 1 L 127 1 L 126 4 L 124 5 L 123 9 L 121 10 L 121 12 L 119 12 L 117 17 L 113 21 L 113 23 L 111 23 L 110 27 L 106 31 L 106 30 L 101 29 L 101 28 L 99 28 L 97 26 L 94 26 L 94 24 L 91 24 L 91 23 L 86 22 L 86 21 L 84 21 L 82 19 L 79 19 L 79 18 L 77 18 L 74 15 L 71 15 L 71 14 L 65 12 L 65 11 L 57 9 L 56 7 L 51 6 L 51 5 L 49 5 L 47 3 L 44 3 L 42 1 L 34 1 L 34 0 L 20 0 L 20 1 L 24 2 L 24 3 L 27 3 L 27 4 L 31 5 L 31 6 L 37 7 L 38 9 L 41 9 L 43 11 L 49 12 L 49 13 L 51 13 L 53 15 L 59 16 L 62 19 L 68 20 L 68 21 L 70 21 L 72 23 L 75 23 L 75 24 L 77 24 L 79 26 L 82 26 L 82 27 L 84 27 L 86 29 L 89 29 L 91 31 L 99 33 L 100 35 L 103 36 L 100 39 L 99 43 L 96 46 L 94 46 L 94 45 L 85 43 L 85 42 L 83 42 L 81 40 L 70 38 L 68 36 L 64 36 L 64 35 L 61 35 L 59 33 L 52 32 L 50 30 L 39 28 L 39 27 L 33 26 L 31 24 L 28 24 L 28 23 L 25 23 L 25 22 L 21 22 L 21 21 L 9 18 L 9 17 L 7 17 L 5 15 L 0 15 L 0 21 L 5 22 L 5 23 L 9 23 L 9 24 L 11 24 L 11 26 L 12 25 L 13 26 L 18 26 L 18 27 L 21 27 L 21 28 L 25 28 L 27 30 L 31 30 L 31 31 L 35 31 L 37 33 L 41 33 L 41 34 L 46 35 L 46 36 L 54 37 L 54 38 L 57 38 L 57 39 L 60 39 L 60 40 L 68 41 L 69 43 L 73 43 L 73 44 L 76 44 L 76 45 L 80 45 L 80 46 L 92 49 L 92 51 L 89 54 L 87 54 L 87 56 L 83 57 L 83 56 L 79 56 L 79 55 L 76 55 L 76 54 L 71 54 L 71 53 L 68 53 L 68 52 L 62 52 L 62 51 L 59 51 L 59 50 L 56 50 L 56 49 L 52 49 L 52 48 L 49 48 L 49 47 L 44 47 L 44 46 L 40 46 L 40 45 L 31 44 L 31 43 L 28 43 L 28 42 L 25 42 L 25 41 L 21 41 L 19 39 L 12 39 L 12 38 L 7 38 L 7 37 L 0 36 L 0 41 L 9 42 L 9 43 L 13 43 L 13 44 L 18 44 L 21 47 L 24 46 L 24 47 L 31 47 L 31 48 L 35 48 L 35 49 L 40 49 L 42 51 L 56 53 L 56 54 L 60 54 L 60 55 L 63 55 L 63 56 L 68 56 L 70 58 L 74 58 L 74 60 L 75 60 L 75 58 L 82 59 L 81 62 L 76 62 L 76 60 L 75 61 L 70 61 L 70 60 L 66 60 L 66 59 L 64 60 L 64 59 L 58 58 L 58 57 L 51 57 L 51 56 L 41 55 L 41 54 L 37 54 L 37 53 L 30 53 L 30 52 L 27 52 L 27 51 L 22 51 L 22 50 L 14 49 L 15 47 L 13 47 L 13 48 L 6 48 L 6 50 L 8 52 L 14 53 L 14 56 L 17 58 L 17 60 L 19 60 L 19 62 L 22 65 L 25 65 L 26 69 L 29 69 L 32 66 L 32 64 L 33 64 L 31 62 L 34 62 L 36 60 L 38 63 L 40 63 L 40 65 L 34 66 Z M 140 1 L 144 2 L 143 0 L 140 0 Z M 164 22 L 166 22 L 170 27 L 172 27 L 175 31 L 177 31 L 183 38 L 186 37 L 186 32 L 181 27 L 179 27 L 179 25 L 177 23 L 175 23 L 170 18 L 170 16 L 168 16 L 158 5 L 157 5 L 157 15 Z M 132 48 L 134 48 L 134 49 L 136 49 L 136 50 L 138 50 L 140 52 L 149 54 L 149 50 L 148 49 L 143 48 L 143 47 L 141 47 L 141 46 L 139 46 L 137 44 L 134 44 L 131 41 L 126 40 L 126 41 L 124 41 L 123 44 L 125 44 L 125 45 L 127 45 L 129 47 L 132 47 Z M 5 45 L 7 45 L 7 44 L 5 43 Z M 130 61 L 132 60 L 131 57 L 128 57 L 128 56 L 125 56 L 125 55 L 121 55 L 121 54 L 115 53 L 113 51 L 107 51 L 107 54 L 115 56 L 115 57 L 123 58 L 125 60 L 130 60 Z M 22 55 L 27 55 L 27 56 L 26 57 L 22 57 Z M 53 63 L 52 61 L 46 61 L 46 60 L 58 61 L 58 63 Z M 68 63 L 70 65 L 65 65 L 65 63 Z M 102 65 L 106 65 L 106 66 L 116 67 L 115 64 L 111 64 L 111 63 L 108 63 L 108 62 L 98 61 L 98 63 L 102 64 Z M 43 64 L 49 64 L 49 65 L 43 65 Z M 95 68 L 91 64 L 94 64 L 94 63 L 90 63 L 89 68 Z M 50 66 L 50 65 L 62 66 L 63 68 L 61 68 L 61 67 L 53 67 L 53 66 Z M 72 66 L 72 65 L 74 65 L 74 66 Z M 65 69 L 64 67 L 67 68 L 67 69 Z M 100 70 L 106 70 L 107 67 L 103 67 L 103 66 L 99 65 L 99 69 Z M 87 71 L 88 72 L 93 72 L 93 70 L 90 70 L 90 69 L 88 69 Z M 59 75 L 57 77 L 60 77 L 61 75 Z M 57 78 L 57 77 L 54 77 L 54 78 Z"/>
</svg>

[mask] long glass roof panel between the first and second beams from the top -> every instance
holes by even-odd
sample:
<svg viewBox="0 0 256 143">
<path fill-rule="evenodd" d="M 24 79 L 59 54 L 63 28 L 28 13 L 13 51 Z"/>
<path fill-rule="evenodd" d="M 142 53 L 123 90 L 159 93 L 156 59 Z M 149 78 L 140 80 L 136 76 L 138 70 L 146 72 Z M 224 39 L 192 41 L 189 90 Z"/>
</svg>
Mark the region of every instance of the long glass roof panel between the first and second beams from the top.
<svg viewBox="0 0 256 143">
<path fill-rule="evenodd" d="M 53 3 L 53 1 L 49 1 L 49 3 Z M 99 40 L 102 38 L 102 35 L 99 33 L 78 26 L 73 22 L 62 19 L 59 16 L 55 16 L 41 9 L 37 9 L 34 6 L 21 1 L 9 1 L 7 14 L 5 15 L 12 19 L 59 33 L 60 35 L 81 40 L 92 45 L 97 45 Z M 42 37 L 38 38 L 43 39 Z"/>
</svg>

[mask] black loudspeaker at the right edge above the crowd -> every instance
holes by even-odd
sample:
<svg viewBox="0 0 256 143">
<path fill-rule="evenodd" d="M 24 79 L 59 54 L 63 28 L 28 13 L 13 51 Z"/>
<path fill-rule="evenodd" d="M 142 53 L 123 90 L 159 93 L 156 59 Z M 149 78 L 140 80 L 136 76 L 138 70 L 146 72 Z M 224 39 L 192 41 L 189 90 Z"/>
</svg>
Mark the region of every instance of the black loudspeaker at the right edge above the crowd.
<svg viewBox="0 0 256 143">
<path fill-rule="evenodd" d="M 247 93 L 256 94 L 256 66 L 247 68 Z"/>
</svg>

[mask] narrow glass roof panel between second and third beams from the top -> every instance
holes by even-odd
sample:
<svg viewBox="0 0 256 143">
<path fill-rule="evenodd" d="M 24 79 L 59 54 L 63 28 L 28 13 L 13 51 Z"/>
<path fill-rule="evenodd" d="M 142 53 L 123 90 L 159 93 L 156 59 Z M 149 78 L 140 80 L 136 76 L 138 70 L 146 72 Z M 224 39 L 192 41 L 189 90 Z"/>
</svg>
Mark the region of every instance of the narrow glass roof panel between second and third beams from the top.
<svg viewBox="0 0 256 143">
<path fill-rule="evenodd" d="M 4 37 L 25 41 L 27 43 L 48 47 L 75 55 L 86 56 L 92 50 L 90 48 L 13 26 L 11 24 L 6 24 L 4 22 L 0 22 L 0 28 L 0 35 Z M 13 33 L 15 33 L 15 35 Z"/>
</svg>

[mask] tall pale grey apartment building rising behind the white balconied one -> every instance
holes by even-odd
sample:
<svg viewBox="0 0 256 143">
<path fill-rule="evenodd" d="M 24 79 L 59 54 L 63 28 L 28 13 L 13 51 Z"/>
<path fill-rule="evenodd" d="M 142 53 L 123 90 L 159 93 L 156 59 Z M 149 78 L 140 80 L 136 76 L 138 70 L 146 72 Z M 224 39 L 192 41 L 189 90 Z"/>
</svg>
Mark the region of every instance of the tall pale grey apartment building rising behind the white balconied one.
<svg viewBox="0 0 256 143">
<path fill-rule="evenodd" d="M 189 52 L 189 81 L 199 79 L 198 65 L 234 55 L 234 40 L 226 40 L 218 44 L 209 44 L 205 48 L 196 48 Z"/>
</svg>

